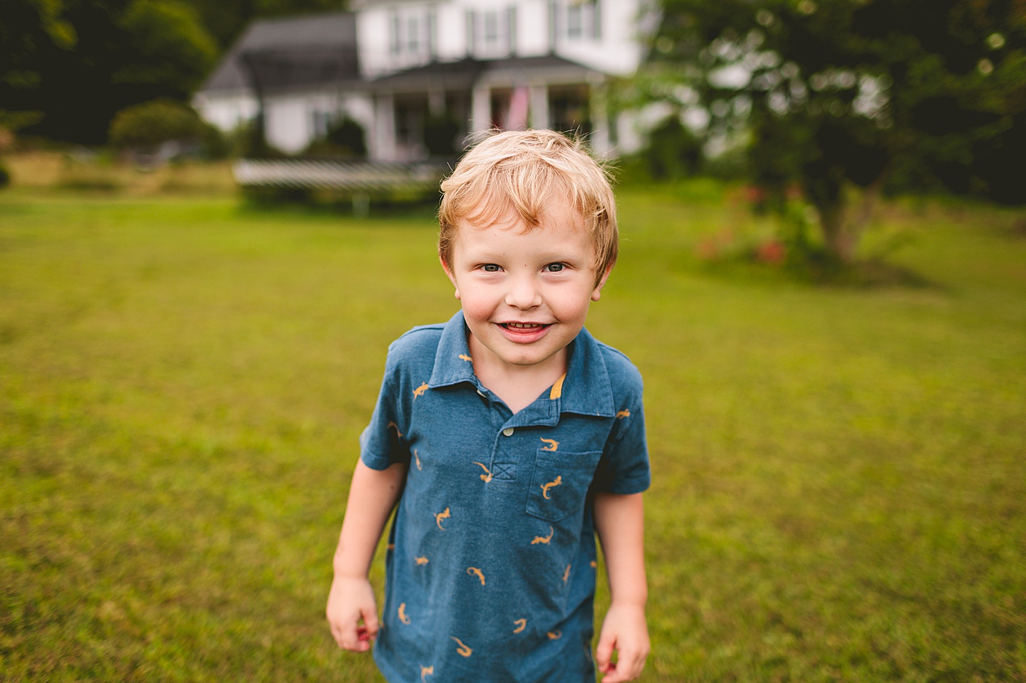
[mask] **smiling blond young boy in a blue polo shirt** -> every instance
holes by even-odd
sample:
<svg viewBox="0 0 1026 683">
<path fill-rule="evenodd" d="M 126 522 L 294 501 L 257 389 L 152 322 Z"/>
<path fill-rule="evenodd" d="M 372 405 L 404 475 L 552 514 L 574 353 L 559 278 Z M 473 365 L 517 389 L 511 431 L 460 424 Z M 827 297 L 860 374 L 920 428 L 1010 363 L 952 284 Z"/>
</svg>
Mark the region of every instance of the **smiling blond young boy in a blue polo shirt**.
<svg viewBox="0 0 1026 683">
<path fill-rule="evenodd" d="M 442 183 L 438 251 L 462 310 L 389 347 L 327 603 L 390 683 L 605 683 L 648 652 L 641 376 L 584 329 L 617 258 L 613 190 L 575 143 L 511 131 Z M 383 624 L 367 571 L 389 535 Z M 618 657 L 614 664 L 614 651 Z"/>
</svg>

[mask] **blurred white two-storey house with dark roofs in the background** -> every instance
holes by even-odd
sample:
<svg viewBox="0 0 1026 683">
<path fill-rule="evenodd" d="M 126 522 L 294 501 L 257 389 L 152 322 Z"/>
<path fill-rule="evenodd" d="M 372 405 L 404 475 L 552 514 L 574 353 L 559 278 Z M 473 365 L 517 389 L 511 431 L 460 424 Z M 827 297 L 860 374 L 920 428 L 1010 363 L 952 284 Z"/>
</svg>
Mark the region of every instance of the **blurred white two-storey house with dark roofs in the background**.
<svg viewBox="0 0 1026 683">
<path fill-rule="evenodd" d="M 602 155 L 640 145 L 635 115 L 613 111 L 605 92 L 645 54 L 645 0 L 352 5 L 254 23 L 196 108 L 226 130 L 262 111 L 268 142 L 289 153 L 346 116 L 377 161 L 457 151 L 468 132 L 491 127 L 579 130 Z"/>
</svg>

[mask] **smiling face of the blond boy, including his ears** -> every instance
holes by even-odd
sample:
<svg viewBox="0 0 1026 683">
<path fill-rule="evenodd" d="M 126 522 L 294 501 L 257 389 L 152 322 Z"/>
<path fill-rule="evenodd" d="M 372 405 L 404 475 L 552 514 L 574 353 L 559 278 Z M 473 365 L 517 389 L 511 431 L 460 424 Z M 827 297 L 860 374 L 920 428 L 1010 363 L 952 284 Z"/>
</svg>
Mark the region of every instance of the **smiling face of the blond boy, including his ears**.
<svg viewBox="0 0 1026 683">
<path fill-rule="evenodd" d="M 581 214 L 553 205 L 540 227 L 515 214 L 483 226 L 462 220 L 446 274 L 463 304 L 475 368 L 565 368 L 566 346 L 598 300 L 595 248 Z"/>
</svg>

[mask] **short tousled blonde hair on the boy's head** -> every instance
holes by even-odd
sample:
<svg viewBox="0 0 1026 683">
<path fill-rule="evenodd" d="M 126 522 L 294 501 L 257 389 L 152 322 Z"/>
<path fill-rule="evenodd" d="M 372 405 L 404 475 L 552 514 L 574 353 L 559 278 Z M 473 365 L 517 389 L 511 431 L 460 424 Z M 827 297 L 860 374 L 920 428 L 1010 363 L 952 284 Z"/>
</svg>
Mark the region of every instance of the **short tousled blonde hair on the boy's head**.
<svg viewBox="0 0 1026 683">
<path fill-rule="evenodd" d="M 569 202 L 595 247 L 595 284 L 617 262 L 617 205 L 606 171 L 577 140 L 553 130 L 509 130 L 478 143 L 442 180 L 438 255 L 452 269 L 457 227 L 480 226 L 511 211 L 538 228 L 554 202 Z"/>
</svg>

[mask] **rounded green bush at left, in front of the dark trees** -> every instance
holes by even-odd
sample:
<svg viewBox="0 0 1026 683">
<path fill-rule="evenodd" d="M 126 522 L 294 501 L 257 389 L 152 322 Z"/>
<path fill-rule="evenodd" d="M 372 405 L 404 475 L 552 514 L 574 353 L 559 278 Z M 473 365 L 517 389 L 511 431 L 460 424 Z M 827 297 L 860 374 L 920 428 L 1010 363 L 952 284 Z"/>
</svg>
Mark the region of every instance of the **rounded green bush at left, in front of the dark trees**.
<svg viewBox="0 0 1026 683">
<path fill-rule="evenodd" d="M 187 105 L 167 98 L 151 99 L 115 114 L 109 136 L 115 147 L 153 152 L 169 140 L 202 138 L 205 125 Z"/>
</svg>

